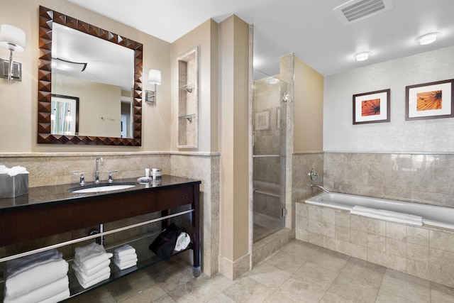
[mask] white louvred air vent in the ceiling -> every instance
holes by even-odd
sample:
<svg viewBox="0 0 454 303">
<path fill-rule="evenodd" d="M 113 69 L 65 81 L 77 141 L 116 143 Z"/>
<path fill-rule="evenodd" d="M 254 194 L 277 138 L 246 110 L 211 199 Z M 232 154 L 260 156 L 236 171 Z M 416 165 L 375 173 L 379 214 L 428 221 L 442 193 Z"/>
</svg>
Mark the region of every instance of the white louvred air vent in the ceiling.
<svg viewBox="0 0 454 303">
<path fill-rule="evenodd" d="M 389 11 L 392 0 L 351 0 L 333 9 L 344 26 Z"/>
</svg>

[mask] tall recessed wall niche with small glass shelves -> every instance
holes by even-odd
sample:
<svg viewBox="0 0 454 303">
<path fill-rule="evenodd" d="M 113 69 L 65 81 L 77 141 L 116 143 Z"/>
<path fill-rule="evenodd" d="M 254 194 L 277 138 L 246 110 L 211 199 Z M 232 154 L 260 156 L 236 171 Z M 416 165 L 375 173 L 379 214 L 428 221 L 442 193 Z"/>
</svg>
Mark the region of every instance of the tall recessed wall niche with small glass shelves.
<svg viewBox="0 0 454 303">
<path fill-rule="evenodd" d="M 199 148 L 198 48 L 178 57 L 177 148 Z"/>
</svg>

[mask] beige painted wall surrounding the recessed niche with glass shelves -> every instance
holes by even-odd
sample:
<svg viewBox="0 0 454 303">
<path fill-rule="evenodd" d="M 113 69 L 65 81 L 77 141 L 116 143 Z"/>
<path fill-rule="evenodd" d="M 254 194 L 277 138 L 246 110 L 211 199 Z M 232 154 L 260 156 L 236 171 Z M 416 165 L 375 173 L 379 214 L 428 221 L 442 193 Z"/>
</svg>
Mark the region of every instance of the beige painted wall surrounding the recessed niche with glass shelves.
<svg viewBox="0 0 454 303">
<path fill-rule="evenodd" d="M 172 87 L 178 87 L 177 57 L 199 47 L 199 148 L 218 152 L 218 23 L 209 19 L 172 43 Z M 172 90 L 172 150 L 178 141 L 178 90 Z"/>
</svg>

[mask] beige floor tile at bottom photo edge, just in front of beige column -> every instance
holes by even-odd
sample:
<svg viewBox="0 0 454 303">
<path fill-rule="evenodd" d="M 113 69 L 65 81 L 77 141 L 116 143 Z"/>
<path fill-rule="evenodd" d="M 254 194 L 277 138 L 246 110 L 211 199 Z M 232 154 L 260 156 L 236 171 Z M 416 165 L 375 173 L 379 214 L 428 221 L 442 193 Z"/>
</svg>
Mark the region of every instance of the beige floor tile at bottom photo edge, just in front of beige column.
<svg viewBox="0 0 454 303">
<path fill-rule="evenodd" d="M 238 303 L 264 302 L 273 290 L 247 276 L 238 278 L 233 285 L 223 291 L 227 297 Z"/>
</svg>

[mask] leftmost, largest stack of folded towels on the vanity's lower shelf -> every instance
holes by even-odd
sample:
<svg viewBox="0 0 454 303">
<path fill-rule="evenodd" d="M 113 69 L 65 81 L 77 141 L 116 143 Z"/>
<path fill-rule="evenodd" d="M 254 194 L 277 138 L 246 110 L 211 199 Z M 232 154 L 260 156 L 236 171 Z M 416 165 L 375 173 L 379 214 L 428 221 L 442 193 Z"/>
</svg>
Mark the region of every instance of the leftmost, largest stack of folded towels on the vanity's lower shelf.
<svg viewBox="0 0 454 303">
<path fill-rule="evenodd" d="M 68 263 L 56 249 L 6 262 L 4 303 L 60 302 L 70 297 Z"/>
</svg>

